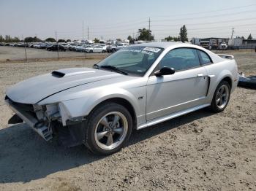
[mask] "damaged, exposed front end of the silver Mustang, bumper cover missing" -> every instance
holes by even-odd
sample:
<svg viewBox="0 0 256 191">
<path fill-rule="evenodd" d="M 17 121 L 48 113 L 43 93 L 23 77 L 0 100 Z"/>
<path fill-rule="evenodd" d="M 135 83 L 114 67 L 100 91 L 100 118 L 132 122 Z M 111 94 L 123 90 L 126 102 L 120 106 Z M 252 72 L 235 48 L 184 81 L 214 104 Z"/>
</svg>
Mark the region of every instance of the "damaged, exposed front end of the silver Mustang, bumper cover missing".
<svg viewBox="0 0 256 191">
<path fill-rule="evenodd" d="M 47 106 L 20 104 L 12 101 L 10 98 L 5 98 L 5 102 L 15 112 L 15 116 L 10 119 L 10 122 L 26 122 L 45 141 L 53 139 L 53 134 L 58 134 L 64 146 L 72 147 L 83 144 L 85 139 L 83 136 L 85 127 L 84 117 L 65 120 L 65 125 L 63 125 L 61 109 L 56 104 Z M 67 115 L 64 117 L 66 118 Z"/>
</svg>

